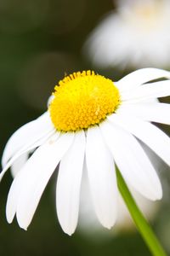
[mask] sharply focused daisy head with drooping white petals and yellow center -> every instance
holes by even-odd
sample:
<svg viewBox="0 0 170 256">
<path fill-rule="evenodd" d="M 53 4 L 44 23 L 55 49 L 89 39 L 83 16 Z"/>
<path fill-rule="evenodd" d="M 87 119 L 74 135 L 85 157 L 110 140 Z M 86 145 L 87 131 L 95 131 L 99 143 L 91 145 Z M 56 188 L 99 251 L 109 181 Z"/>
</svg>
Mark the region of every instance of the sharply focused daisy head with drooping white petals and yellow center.
<svg viewBox="0 0 170 256">
<path fill-rule="evenodd" d="M 10 166 L 22 163 L 8 192 L 8 223 L 16 214 L 20 227 L 27 229 L 58 165 L 56 210 L 69 235 L 77 227 L 86 169 L 96 216 L 108 229 L 118 211 L 116 166 L 139 194 L 160 200 L 159 177 L 140 141 L 170 165 L 170 139 L 150 123 L 170 125 L 170 106 L 156 100 L 170 95 L 169 79 L 167 71 L 145 68 L 116 83 L 93 71 L 59 81 L 48 111 L 15 131 L 4 148 L 0 178 Z"/>
</svg>

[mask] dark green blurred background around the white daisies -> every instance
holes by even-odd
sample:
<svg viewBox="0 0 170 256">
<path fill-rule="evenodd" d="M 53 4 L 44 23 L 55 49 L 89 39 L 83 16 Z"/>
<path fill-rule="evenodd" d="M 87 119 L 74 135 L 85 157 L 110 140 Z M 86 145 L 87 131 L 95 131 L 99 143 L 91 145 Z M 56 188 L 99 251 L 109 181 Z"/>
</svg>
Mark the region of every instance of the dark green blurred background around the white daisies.
<svg viewBox="0 0 170 256">
<path fill-rule="evenodd" d="M 66 74 L 94 69 L 120 79 L 132 67 L 95 67 L 86 57 L 84 43 L 107 13 L 116 10 L 111 0 L 0 0 L 0 155 L 8 137 L 47 108 L 48 96 Z M 169 66 L 170 67 L 170 66 Z M 167 67 L 167 69 L 169 69 Z M 169 99 L 165 99 L 167 102 Z M 162 129 L 169 130 L 167 126 Z M 169 168 L 159 166 L 164 198 L 150 224 L 170 253 Z M 88 226 L 73 236 L 60 229 L 55 211 L 56 175 L 42 195 L 27 231 L 16 220 L 8 224 L 5 204 L 12 182 L 10 172 L 0 185 L 0 253 L 10 255 L 150 255 L 137 230 L 123 224 L 108 232 Z M 88 219 L 85 215 L 84 218 Z"/>
</svg>

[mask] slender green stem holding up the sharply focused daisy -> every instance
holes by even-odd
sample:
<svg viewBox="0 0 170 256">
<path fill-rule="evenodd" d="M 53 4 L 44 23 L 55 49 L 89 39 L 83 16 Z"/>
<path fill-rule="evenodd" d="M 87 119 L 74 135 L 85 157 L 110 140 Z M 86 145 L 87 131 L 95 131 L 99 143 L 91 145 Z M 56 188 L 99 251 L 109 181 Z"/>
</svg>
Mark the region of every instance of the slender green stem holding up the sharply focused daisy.
<svg viewBox="0 0 170 256">
<path fill-rule="evenodd" d="M 121 172 L 119 172 L 118 169 L 116 169 L 116 177 L 118 188 L 122 195 L 122 198 L 127 205 L 128 211 L 130 212 L 133 221 L 139 230 L 140 235 L 143 237 L 145 243 L 150 248 L 150 252 L 154 256 L 166 256 L 167 254 L 161 247 L 161 244 L 157 240 L 153 230 L 151 230 L 150 224 L 148 224 L 147 220 L 144 218 L 144 215 L 142 214 L 142 212 L 140 212 L 139 207 L 133 200 L 133 196 L 127 188 L 127 184 L 125 183 L 122 174 Z"/>
</svg>

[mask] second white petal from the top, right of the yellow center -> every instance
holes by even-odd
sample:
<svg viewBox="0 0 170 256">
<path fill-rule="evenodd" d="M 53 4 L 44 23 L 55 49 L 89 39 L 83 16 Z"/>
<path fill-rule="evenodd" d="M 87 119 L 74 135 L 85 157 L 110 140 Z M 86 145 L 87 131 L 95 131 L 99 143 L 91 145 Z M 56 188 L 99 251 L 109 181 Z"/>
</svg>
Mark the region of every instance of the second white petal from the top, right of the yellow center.
<svg viewBox="0 0 170 256">
<path fill-rule="evenodd" d="M 170 81 L 165 80 L 161 82 L 144 84 L 137 87 L 134 90 L 124 91 L 121 94 L 121 99 L 123 101 L 141 101 L 149 100 L 152 98 L 160 98 L 170 95 Z"/>
</svg>

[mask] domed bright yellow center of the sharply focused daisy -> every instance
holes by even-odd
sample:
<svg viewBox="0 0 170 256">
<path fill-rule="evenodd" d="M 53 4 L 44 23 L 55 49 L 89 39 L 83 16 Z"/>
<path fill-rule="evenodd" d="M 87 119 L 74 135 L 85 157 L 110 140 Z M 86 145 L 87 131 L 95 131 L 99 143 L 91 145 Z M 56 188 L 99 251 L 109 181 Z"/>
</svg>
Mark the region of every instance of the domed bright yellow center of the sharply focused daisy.
<svg viewBox="0 0 170 256">
<path fill-rule="evenodd" d="M 119 91 L 111 79 L 94 71 L 73 73 L 59 81 L 49 105 L 58 131 L 77 131 L 99 124 L 114 113 L 120 102 Z"/>
</svg>

